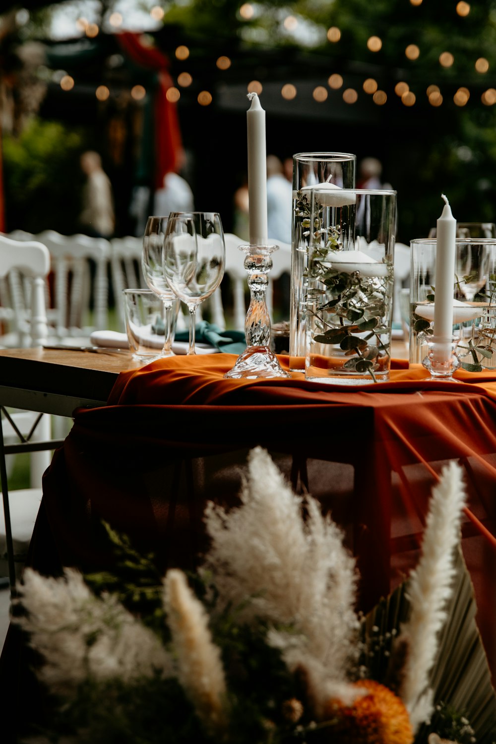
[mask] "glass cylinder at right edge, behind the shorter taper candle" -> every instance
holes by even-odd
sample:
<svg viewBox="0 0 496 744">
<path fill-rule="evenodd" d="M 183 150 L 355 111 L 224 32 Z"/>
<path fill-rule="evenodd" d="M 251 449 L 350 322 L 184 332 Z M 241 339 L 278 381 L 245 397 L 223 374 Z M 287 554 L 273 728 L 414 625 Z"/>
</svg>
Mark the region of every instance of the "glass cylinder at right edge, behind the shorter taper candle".
<svg viewBox="0 0 496 744">
<path fill-rule="evenodd" d="M 436 240 L 410 241 L 410 364 L 422 364 L 434 336 Z M 457 238 L 453 276 L 453 335 L 470 372 L 496 365 L 496 240 Z"/>
</svg>

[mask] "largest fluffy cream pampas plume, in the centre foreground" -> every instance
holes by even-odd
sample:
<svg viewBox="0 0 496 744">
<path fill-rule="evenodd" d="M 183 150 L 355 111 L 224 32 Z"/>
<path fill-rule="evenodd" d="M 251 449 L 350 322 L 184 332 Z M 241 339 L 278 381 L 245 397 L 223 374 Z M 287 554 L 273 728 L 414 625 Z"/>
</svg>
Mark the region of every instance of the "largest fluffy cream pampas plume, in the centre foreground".
<svg viewBox="0 0 496 744">
<path fill-rule="evenodd" d="M 207 504 L 212 543 L 204 569 L 213 574 L 221 606 L 243 605 L 243 620 L 272 623 L 269 643 L 291 670 L 305 667 L 312 688 L 324 694 L 326 681 L 344 682 L 356 652 L 355 559 L 312 497 L 303 519 L 302 499 L 261 447 L 248 456 L 241 500 L 229 513 Z M 277 629 L 287 623 L 292 632 Z"/>
</svg>

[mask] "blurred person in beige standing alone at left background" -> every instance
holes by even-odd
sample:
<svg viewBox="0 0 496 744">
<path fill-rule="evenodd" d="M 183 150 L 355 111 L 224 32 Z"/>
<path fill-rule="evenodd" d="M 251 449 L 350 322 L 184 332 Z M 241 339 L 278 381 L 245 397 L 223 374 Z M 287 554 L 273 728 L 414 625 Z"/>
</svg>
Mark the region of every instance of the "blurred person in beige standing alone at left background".
<svg viewBox="0 0 496 744">
<path fill-rule="evenodd" d="M 83 209 L 79 218 L 81 229 L 93 237 L 112 237 L 115 231 L 114 197 L 109 176 L 102 167 L 102 159 L 94 150 L 87 150 L 81 155 L 80 164 L 86 175 Z"/>
</svg>

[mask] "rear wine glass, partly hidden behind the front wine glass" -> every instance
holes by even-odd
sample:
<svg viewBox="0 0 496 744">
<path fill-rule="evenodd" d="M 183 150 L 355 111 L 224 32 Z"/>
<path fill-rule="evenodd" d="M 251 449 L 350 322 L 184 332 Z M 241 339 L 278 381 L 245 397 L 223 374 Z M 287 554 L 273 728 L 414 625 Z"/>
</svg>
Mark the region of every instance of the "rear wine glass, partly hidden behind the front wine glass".
<svg viewBox="0 0 496 744">
<path fill-rule="evenodd" d="M 162 249 L 167 226 L 167 217 L 149 217 L 143 238 L 141 266 L 146 284 L 164 303 L 164 347 L 158 356 L 175 356 L 173 341 L 178 318 L 179 301 L 164 277 Z"/>
</svg>

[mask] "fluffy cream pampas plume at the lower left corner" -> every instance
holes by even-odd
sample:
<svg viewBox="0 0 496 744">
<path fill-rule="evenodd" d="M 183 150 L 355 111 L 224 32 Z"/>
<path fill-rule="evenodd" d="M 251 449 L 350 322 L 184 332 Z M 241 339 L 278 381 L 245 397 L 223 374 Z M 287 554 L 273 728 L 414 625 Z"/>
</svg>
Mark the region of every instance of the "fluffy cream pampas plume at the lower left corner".
<svg viewBox="0 0 496 744">
<path fill-rule="evenodd" d="M 71 695 L 85 679 L 132 682 L 159 671 L 172 676 L 173 660 L 154 632 L 112 594 L 96 597 L 73 568 L 65 577 L 42 577 L 26 568 L 14 618 L 30 634 L 45 664 L 39 677 L 54 692 Z"/>
</svg>

